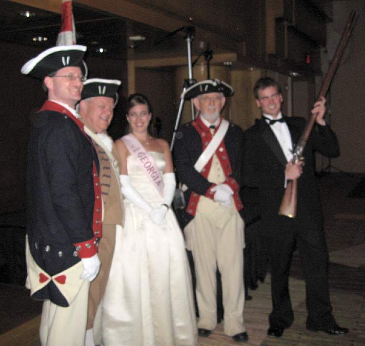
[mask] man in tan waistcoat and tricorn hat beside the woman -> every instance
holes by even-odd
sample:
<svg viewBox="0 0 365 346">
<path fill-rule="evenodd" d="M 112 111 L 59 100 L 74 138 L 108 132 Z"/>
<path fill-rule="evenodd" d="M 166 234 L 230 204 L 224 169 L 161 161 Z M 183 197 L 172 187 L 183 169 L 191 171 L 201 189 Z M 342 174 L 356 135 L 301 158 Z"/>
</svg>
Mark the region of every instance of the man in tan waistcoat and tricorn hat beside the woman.
<svg viewBox="0 0 365 346">
<path fill-rule="evenodd" d="M 90 284 L 86 345 L 101 343 L 100 301 L 107 285 L 114 253 L 115 232 L 123 225 L 123 198 L 119 184 L 119 154 L 107 128 L 113 119 L 120 80 L 93 78 L 84 82 L 81 101 L 76 106 L 85 132 L 90 136 L 100 162 L 100 186 L 103 199 L 103 237 L 98 244 L 102 266 Z"/>
</svg>

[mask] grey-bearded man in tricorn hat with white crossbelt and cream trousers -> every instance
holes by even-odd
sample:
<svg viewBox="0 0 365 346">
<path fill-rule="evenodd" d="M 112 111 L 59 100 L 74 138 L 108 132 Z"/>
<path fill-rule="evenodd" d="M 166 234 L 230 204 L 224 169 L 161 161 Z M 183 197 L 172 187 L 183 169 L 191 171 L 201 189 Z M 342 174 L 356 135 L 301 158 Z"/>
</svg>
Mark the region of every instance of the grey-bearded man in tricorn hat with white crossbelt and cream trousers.
<svg viewBox="0 0 365 346">
<path fill-rule="evenodd" d="M 180 224 L 192 251 L 199 309 L 198 332 L 208 337 L 217 323 L 216 269 L 221 273 L 224 332 L 245 342 L 243 253 L 244 222 L 239 211 L 242 131 L 220 112 L 230 85 L 218 79 L 198 82 L 181 96 L 193 99 L 197 118 L 176 134 L 174 159 L 185 186 Z"/>
</svg>

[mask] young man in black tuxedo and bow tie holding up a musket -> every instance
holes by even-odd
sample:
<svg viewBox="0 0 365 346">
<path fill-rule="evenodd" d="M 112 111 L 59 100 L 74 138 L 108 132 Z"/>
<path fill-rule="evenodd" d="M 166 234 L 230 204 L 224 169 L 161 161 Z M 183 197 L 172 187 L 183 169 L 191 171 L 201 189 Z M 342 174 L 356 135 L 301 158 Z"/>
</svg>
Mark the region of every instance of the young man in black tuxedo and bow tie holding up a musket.
<svg viewBox="0 0 365 346">
<path fill-rule="evenodd" d="M 262 117 L 244 133 L 243 167 L 245 185 L 259 189 L 262 231 L 270 253 L 273 310 L 268 335 L 280 337 L 293 323 L 288 280 L 295 245 L 306 281 L 307 329 L 345 334 L 348 329 L 339 327 L 332 315 L 328 250 L 315 172 L 316 151 L 328 157 L 339 155 L 336 135 L 323 119 L 326 100 L 321 97 L 314 104 L 315 127 L 303 159 L 293 163 L 292 149 L 306 120 L 281 114 L 281 88 L 272 78 L 260 78 L 254 95 Z M 286 182 L 293 179 L 298 179 L 298 204 L 296 217 L 290 218 L 278 211 Z"/>
</svg>

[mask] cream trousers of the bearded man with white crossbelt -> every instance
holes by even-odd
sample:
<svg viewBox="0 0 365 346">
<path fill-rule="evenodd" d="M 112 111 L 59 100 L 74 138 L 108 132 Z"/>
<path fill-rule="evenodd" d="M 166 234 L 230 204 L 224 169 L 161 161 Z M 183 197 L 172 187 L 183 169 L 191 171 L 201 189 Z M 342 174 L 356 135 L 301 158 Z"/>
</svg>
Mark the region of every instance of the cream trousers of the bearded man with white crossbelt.
<svg viewBox="0 0 365 346">
<path fill-rule="evenodd" d="M 214 213 L 196 212 L 185 227 L 187 248 L 192 251 L 196 274 L 198 328 L 213 330 L 217 323 L 216 268 L 221 274 L 224 331 L 245 332 L 244 326 L 244 222 L 238 213 L 221 207 Z"/>
</svg>

